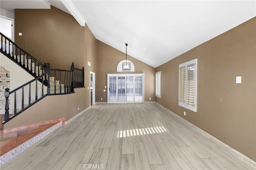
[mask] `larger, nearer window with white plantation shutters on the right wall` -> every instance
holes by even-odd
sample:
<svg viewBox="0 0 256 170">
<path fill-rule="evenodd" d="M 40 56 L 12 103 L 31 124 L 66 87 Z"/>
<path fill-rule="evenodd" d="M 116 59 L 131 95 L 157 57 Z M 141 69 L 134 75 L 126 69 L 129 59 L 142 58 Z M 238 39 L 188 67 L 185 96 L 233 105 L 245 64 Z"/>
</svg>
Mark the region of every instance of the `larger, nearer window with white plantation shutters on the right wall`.
<svg viewBox="0 0 256 170">
<path fill-rule="evenodd" d="M 179 65 L 179 105 L 196 112 L 197 59 Z"/>
</svg>

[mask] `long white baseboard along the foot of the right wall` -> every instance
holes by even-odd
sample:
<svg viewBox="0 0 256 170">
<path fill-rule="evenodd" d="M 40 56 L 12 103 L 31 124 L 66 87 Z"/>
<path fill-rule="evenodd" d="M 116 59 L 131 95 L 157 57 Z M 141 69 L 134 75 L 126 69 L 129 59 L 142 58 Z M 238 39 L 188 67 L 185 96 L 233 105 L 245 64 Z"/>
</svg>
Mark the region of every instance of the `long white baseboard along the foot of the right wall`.
<svg viewBox="0 0 256 170">
<path fill-rule="evenodd" d="M 192 123 L 190 123 L 189 121 L 187 121 L 186 119 L 183 119 L 182 117 L 180 117 L 179 115 L 176 115 L 175 113 L 173 113 L 172 111 L 170 111 L 169 109 L 167 109 L 166 107 L 160 105 L 159 103 L 156 102 L 156 104 L 158 104 L 160 107 L 166 109 L 166 111 L 168 111 L 170 114 L 178 117 L 179 119 L 182 119 L 186 122 L 188 122 L 190 125 L 196 127 L 195 125 L 193 125 Z M 198 128 L 198 127 L 196 127 Z M 244 154 L 238 152 L 237 150 L 235 150 L 234 148 L 231 148 L 230 146 L 228 146 L 227 144 L 223 143 L 222 141 L 218 140 L 217 138 L 215 138 L 214 136 L 208 134 L 207 132 L 205 132 L 204 130 L 198 128 L 198 130 L 201 130 L 202 134 L 210 136 L 210 138 L 212 138 L 213 141 L 215 141 L 217 144 L 219 144 L 220 146 L 223 146 L 225 149 L 227 149 L 228 151 L 232 152 L 233 154 L 236 154 L 239 158 L 241 158 L 241 160 L 245 161 L 247 164 L 250 164 L 251 166 L 253 166 L 256 169 L 256 162 L 254 162 L 254 160 L 251 160 L 250 158 L 248 158 L 247 156 L 245 156 Z"/>
</svg>

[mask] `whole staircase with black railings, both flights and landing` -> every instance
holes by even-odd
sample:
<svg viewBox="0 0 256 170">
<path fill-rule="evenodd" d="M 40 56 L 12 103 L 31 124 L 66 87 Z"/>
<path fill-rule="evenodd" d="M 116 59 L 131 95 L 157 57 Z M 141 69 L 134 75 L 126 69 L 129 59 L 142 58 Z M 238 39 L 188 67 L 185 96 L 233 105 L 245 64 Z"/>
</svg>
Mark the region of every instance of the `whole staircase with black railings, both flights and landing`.
<svg viewBox="0 0 256 170">
<path fill-rule="evenodd" d="M 34 77 L 12 91 L 5 89 L 7 102 L 3 125 L 47 95 L 74 93 L 74 88 L 84 87 L 84 67 L 78 69 L 72 63 L 70 70 L 52 69 L 50 63 L 42 64 L 2 33 L 0 35 L 1 53 Z M 14 101 L 10 107 L 9 97 Z"/>
</svg>

